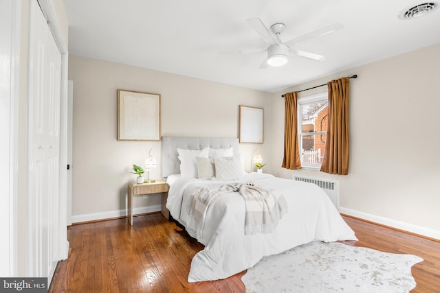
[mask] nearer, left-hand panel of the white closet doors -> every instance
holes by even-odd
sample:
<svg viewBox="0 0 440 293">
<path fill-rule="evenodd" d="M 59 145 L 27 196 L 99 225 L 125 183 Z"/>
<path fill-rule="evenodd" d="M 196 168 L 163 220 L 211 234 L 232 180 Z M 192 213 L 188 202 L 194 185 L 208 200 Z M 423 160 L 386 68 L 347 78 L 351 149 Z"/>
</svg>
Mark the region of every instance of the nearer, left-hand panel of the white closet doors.
<svg viewBox="0 0 440 293">
<path fill-rule="evenodd" d="M 38 12 L 34 1 L 31 2 L 30 21 L 30 73 L 29 73 L 29 257 L 28 277 L 45 277 L 43 261 L 47 264 L 45 253 L 45 236 L 43 223 L 45 210 L 43 210 L 44 196 L 47 195 L 47 184 L 44 182 L 47 175 L 45 165 L 45 147 L 47 142 L 45 128 L 47 128 L 47 115 L 44 113 L 45 105 L 45 59 L 47 54 L 47 25 L 45 19 Z"/>
</svg>

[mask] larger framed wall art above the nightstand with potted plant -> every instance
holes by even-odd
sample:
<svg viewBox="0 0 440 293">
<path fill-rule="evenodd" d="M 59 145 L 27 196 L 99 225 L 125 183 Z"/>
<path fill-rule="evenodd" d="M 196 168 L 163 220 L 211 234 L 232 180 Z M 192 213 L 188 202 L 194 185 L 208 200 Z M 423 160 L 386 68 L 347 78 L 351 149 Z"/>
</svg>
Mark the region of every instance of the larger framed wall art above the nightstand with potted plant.
<svg viewBox="0 0 440 293">
<path fill-rule="evenodd" d="M 118 141 L 160 140 L 160 95 L 118 89 Z"/>
</svg>

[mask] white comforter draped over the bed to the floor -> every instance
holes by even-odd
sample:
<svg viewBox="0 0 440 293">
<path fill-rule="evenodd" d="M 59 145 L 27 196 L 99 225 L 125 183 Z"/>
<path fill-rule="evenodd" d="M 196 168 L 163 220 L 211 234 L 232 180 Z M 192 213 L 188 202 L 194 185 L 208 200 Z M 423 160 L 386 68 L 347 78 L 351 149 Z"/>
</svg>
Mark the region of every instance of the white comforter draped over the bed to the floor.
<svg viewBox="0 0 440 293">
<path fill-rule="evenodd" d="M 245 202 L 228 192 L 208 207 L 203 230 L 188 213 L 194 191 L 201 186 L 254 182 L 287 201 L 285 215 L 272 233 L 245 235 Z M 170 185 L 167 209 L 188 233 L 205 245 L 192 259 L 188 282 L 228 278 L 254 266 L 262 257 L 275 255 L 312 240 L 357 240 L 333 203 L 320 187 L 311 183 L 276 178 L 268 174 L 245 174 L 241 180 L 179 179 Z"/>
</svg>

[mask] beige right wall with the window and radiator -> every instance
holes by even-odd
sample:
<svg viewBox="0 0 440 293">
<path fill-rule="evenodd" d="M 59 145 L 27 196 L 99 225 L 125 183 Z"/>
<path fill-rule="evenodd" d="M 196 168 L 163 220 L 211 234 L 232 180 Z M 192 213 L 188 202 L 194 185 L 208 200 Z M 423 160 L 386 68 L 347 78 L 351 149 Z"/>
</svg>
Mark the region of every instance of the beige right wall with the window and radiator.
<svg viewBox="0 0 440 293">
<path fill-rule="evenodd" d="M 274 174 L 340 180 L 342 212 L 366 213 L 387 224 L 406 223 L 405 227 L 414 225 L 415 231 L 421 228 L 440 235 L 440 135 L 436 129 L 440 125 L 439 51 L 440 45 L 426 47 L 274 93 L 271 161 L 281 166 L 281 94 L 358 74 L 358 79 L 350 80 L 349 175 L 331 176 L 310 169 L 294 172 L 281 167 L 274 169 Z M 320 91 L 327 88 L 306 91 L 300 97 Z"/>
</svg>

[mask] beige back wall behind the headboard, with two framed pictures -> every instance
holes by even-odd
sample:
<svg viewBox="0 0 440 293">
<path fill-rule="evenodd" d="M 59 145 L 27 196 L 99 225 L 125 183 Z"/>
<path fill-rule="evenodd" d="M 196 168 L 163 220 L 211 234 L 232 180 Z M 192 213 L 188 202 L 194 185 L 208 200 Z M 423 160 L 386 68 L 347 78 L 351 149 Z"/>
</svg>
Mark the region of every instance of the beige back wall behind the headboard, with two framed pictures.
<svg viewBox="0 0 440 293">
<path fill-rule="evenodd" d="M 143 165 L 150 148 L 160 166 L 159 141 L 116 140 L 118 89 L 161 95 L 162 136 L 238 137 L 239 105 L 264 108 L 265 129 L 272 123 L 271 94 L 262 91 L 72 55 L 69 80 L 74 82 L 73 222 L 123 213 L 126 185 L 135 180 L 131 165 Z M 269 156 L 267 145 L 240 145 L 245 170 L 255 148 Z M 161 177 L 159 166 L 151 177 Z M 140 196 L 134 204 L 148 209 L 160 198 Z"/>
</svg>

